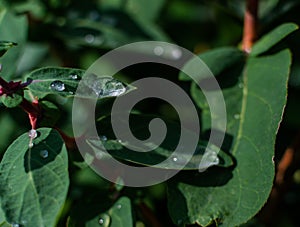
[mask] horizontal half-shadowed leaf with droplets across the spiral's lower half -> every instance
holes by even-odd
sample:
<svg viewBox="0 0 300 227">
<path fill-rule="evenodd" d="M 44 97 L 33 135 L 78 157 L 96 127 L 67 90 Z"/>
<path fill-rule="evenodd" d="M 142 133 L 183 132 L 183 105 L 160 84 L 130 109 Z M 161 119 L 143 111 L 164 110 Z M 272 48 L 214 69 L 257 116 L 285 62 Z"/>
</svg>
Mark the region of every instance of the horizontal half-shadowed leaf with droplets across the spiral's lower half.
<svg viewBox="0 0 300 227">
<path fill-rule="evenodd" d="M 157 116 L 152 115 L 138 115 L 131 114 L 131 124 L 130 129 L 133 135 L 137 136 L 140 139 L 145 139 L 149 136 L 148 125 L 149 122 Z M 105 151 L 109 152 L 111 156 L 114 158 L 127 161 L 129 163 L 144 165 L 144 166 L 152 166 L 158 163 L 165 161 L 167 158 L 172 156 L 177 143 L 179 141 L 180 136 L 180 124 L 177 122 L 168 121 L 167 119 L 163 119 L 168 127 L 168 134 L 157 148 L 151 149 L 151 147 L 156 147 L 154 144 L 144 144 L 149 150 L 149 152 L 137 152 L 139 147 L 133 146 L 132 144 L 126 141 L 118 141 L 114 139 L 113 129 L 111 128 L 111 118 L 105 117 L 101 118 L 98 121 L 97 125 L 99 125 L 99 131 L 101 136 L 101 140 L 88 139 L 86 142 L 92 148 L 94 157 L 99 157 L 101 160 L 110 158 Z M 192 132 L 191 132 L 192 133 Z M 105 136 L 104 136 L 105 135 Z M 105 138 L 105 139 L 103 139 Z M 133 150 L 129 148 L 133 148 Z M 224 151 L 220 150 L 218 147 L 207 144 L 205 142 L 199 143 L 196 151 L 194 151 L 194 155 L 191 160 L 184 166 L 184 170 L 198 170 L 199 164 L 203 158 L 203 154 L 205 149 L 208 148 L 210 151 L 209 154 L 218 154 L 219 163 L 207 163 L 210 165 L 217 165 L 221 167 L 229 167 L 233 165 L 233 161 L 231 157 L 226 154 Z M 181 155 L 179 157 L 173 157 L 172 161 L 167 162 L 165 166 L 161 166 L 164 169 L 181 169 L 182 163 L 185 162 L 189 156 L 189 152 L 182 148 Z M 218 153 L 219 152 L 219 153 Z"/>
</svg>

